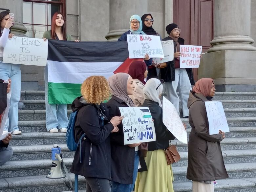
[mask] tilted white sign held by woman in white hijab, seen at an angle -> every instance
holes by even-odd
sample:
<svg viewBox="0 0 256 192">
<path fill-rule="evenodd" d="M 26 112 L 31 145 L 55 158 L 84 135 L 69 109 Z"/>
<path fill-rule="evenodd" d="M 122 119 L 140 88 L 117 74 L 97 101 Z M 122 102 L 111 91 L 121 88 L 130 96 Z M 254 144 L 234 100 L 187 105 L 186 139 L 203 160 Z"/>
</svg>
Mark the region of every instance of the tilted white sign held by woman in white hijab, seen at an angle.
<svg viewBox="0 0 256 192">
<path fill-rule="evenodd" d="M 163 124 L 184 144 L 187 144 L 187 132 L 174 105 L 163 96 Z"/>
</svg>

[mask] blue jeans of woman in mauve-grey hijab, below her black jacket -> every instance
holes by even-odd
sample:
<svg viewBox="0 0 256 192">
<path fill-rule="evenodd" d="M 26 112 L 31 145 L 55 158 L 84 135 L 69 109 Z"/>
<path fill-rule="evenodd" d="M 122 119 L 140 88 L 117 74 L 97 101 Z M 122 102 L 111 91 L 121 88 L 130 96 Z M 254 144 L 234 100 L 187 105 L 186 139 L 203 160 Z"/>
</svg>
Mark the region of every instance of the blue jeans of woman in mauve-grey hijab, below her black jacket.
<svg viewBox="0 0 256 192">
<path fill-rule="evenodd" d="M 134 168 L 133 168 L 133 184 L 121 184 L 115 181 L 111 182 L 111 192 L 131 192 L 134 188 L 135 181 L 138 174 L 139 167 L 139 153 L 135 151 Z"/>
</svg>

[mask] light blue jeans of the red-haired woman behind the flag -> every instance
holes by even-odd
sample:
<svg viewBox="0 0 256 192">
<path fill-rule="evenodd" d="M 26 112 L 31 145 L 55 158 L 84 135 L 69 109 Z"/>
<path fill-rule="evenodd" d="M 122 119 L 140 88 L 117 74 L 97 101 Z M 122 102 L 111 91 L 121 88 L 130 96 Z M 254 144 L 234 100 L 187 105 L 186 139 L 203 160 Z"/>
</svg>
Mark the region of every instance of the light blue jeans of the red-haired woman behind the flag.
<svg viewBox="0 0 256 192">
<path fill-rule="evenodd" d="M 68 126 L 68 110 L 67 104 L 49 104 L 48 103 L 48 71 L 47 66 L 44 70 L 44 85 L 45 85 L 45 116 L 46 129 L 50 131 L 53 128 L 67 128 Z M 57 108 L 56 108 L 57 107 Z"/>
</svg>

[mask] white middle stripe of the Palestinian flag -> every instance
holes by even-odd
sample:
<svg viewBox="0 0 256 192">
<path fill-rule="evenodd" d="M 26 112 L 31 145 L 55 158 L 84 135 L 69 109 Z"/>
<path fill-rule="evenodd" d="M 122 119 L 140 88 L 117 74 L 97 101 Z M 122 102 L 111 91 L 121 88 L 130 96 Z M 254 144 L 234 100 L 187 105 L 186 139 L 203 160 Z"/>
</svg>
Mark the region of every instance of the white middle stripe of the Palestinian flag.
<svg viewBox="0 0 256 192">
<path fill-rule="evenodd" d="M 123 61 L 102 63 L 47 61 L 48 82 L 81 84 L 92 75 L 102 75 L 108 78 L 122 63 Z"/>
</svg>

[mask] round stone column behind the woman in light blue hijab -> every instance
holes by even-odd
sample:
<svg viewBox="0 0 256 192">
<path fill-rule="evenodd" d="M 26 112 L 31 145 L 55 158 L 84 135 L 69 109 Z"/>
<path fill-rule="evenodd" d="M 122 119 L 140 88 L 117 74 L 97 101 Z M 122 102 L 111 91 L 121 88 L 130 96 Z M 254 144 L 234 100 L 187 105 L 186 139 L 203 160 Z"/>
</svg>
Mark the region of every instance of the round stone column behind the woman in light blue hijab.
<svg viewBox="0 0 256 192">
<path fill-rule="evenodd" d="M 147 0 L 110 0 L 109 32 L 105 36 L 108 41 L 117 39 L 130 28 L 129 20 L 134 14 L 139 16 L 147 12 Z"/>
</svg>

